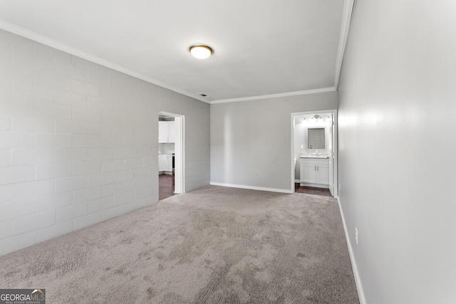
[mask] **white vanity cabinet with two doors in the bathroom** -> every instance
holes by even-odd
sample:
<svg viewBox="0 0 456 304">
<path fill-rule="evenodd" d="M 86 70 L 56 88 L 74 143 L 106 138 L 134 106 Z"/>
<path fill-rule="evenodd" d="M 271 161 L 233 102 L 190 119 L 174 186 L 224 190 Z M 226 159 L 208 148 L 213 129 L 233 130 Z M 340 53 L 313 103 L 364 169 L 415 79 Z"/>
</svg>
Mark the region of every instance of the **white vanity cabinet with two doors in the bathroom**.
<svg viewBox="0 0 456 304">
<path fill-rule="evenodd" d="M 329 187 L 329 159 L 300 157 L 301 186 Z"/>
</svg>

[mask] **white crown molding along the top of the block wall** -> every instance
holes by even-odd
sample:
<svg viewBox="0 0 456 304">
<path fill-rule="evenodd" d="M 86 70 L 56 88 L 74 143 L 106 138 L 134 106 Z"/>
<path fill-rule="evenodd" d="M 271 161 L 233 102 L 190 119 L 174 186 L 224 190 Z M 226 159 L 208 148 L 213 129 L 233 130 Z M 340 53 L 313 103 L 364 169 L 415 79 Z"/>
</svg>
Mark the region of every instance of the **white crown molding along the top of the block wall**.
<svg viewBox="0 0 456 304">
<path fill-rule="evenodd" d="M 180 93 L 182 95 L 188 96 L 190 98 L 194 98 L 196 100 L 202 101 L 203 103 L 210 103 L 208 100 L 204 100 L 201 96 L 192 94 L 190 92 L 187 92 L 186 90 L 181 90 L 179 88 L 175 88 L 172 85 L 168 85 L 167 83 L 162 83 L 159 80 L 156 80 L 154 78 L 151 78 L 147 75 L 144 75 L 142 73 L 135 72 L 134 70 L 130 70 L 129 68 L 125 68 L 122 65 L 118 65 L 116 63 L 112 63 L 110 61 L 107 61 L 105 59 L 99 58 L 97 56 L 93 56 L 90 53 L 84 52 L 79 50 L 78 48 L 73 48 L 72 46 L 68 46 L 65 43 L 61 43 L 58 41 L 55 41 L 51 38 L 48 38 L 46 36 L 42 36 L 38 33 L 35 33 L 33 31 L 28 31 L 25 28 L 21 28 L 20 26 L 16 26 L 13 23 L 6 22 L 4 20 L 0 19 L 0 28 L 3 29 L 4 31 L 9 31 L 11 33 L 15 33 L 16 35 L 31 39 L 33 41 L 36 41 L 38 43 L 42 43 L 46 46 L 50 46 L 51 48 L 56 48 L 59 51 L 63 51 L 66 53 L 69 53 L 74 56 L 81 57 L 83 59 L 86 59 L 87 61 L 91 61 L 93 63 L 97 63 L 99 65 L 103 65 L 107 68 L 112 68 L 113 70 L 117 70 L 118 72 L 133 76 L 135 78 L 141 79 L 146 81 L 147 83 L 152 83 L 154 85 L 159 85 L 162 88 L 166 88 L 168 90 L 172 90 L 176 93 Z"/>
</svg>

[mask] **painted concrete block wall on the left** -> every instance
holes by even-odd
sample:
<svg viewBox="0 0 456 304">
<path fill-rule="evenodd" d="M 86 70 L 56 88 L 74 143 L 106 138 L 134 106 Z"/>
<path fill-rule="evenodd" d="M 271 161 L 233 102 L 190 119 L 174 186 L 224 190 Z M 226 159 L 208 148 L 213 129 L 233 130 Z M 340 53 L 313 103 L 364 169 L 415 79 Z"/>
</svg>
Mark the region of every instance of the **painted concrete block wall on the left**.
<svg viewBox="0 0 456 304">
<path fill-rule="evenodd" d="M 0 31 L 0 254 L 158 200 L 158 111 L 209 184 L 209 105 Z"/>
</svg>

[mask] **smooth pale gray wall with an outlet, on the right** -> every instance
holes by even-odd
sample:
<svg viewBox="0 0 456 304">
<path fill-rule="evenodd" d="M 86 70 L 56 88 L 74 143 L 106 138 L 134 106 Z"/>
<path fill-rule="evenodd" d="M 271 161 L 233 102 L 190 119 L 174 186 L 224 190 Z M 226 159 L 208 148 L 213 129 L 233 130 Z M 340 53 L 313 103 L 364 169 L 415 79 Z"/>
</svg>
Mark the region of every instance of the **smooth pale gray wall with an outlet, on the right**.
<svg viewBox="0 0 456 304">
<path fill-rule="evenodd" d="M 339 195 L 369 304 L 456 303 L 455 28 L 452 0 L 356 5 Z"/>
</svg>

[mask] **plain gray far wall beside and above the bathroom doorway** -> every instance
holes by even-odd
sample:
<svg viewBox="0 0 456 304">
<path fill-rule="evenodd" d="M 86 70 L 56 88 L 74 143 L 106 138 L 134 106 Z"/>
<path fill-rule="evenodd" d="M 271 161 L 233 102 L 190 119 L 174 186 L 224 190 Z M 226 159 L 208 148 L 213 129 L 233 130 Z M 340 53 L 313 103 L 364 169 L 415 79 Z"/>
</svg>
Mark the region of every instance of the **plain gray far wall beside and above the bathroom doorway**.
<svg viewBox="0 0 456 304">
<path fill-rule="evenodd" d="M 336 107 L 336 92 L 211 105 L 211 183 L 290 191 L 291 113 Z"/>
</svg>

